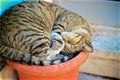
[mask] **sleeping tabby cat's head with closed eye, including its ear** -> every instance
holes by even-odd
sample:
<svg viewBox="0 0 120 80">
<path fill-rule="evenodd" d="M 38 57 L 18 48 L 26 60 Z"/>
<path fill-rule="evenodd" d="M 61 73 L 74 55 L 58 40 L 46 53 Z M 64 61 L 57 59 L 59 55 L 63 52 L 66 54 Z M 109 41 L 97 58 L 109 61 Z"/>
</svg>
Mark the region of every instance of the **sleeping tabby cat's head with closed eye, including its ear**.
<svg viewBox="0 0 120 80">
<path fill-rule="evenodd" d="M 63 52 L 93 51 L 91 36 L 86 30 L 74 29 L 69 32 L 62 32 L 62 37 L 65 41 L 65 49 Z"/>
</svg>

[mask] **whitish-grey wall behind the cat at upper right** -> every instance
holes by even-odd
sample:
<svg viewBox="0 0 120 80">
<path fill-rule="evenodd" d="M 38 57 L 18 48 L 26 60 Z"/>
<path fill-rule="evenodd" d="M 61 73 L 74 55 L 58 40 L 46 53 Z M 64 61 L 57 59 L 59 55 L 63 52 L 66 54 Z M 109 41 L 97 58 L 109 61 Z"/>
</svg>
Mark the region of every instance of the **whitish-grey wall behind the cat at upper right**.
<svg viewBox="0 0 120 80">
<path fill-rule="evenodd" d="M 120 28 L 120 2 L 106 0 L 57 0 L 57 3 L 80 14 L 89 23 Z"/>
</svg>

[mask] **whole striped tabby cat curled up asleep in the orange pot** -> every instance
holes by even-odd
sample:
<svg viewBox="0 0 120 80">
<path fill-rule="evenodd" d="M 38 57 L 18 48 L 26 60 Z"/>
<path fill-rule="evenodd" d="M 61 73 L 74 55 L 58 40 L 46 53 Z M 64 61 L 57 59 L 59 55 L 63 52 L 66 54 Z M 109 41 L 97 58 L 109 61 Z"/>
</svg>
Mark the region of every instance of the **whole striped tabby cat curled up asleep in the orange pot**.
<svg viewBox="0 0 120 80">
<path fill-rule="evenodd" d="M 93 51 L 88 23 L 78 14 L 44 1 L 24 2 L 0 17 L 0 54 L 16 62 L 51 65 L 62 54 Z"/>
</svg>

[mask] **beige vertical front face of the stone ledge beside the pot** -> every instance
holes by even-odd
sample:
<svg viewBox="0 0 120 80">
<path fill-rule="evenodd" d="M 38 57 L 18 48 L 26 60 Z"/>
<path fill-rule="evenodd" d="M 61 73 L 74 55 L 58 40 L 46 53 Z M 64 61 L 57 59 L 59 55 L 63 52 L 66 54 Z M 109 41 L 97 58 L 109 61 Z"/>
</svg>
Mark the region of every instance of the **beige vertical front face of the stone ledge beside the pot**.
<svg viewBox="0 0 120 80">
<path fill-rule="evenodd" d="M 120 79 L 120 53 L 94 50 L 80 72 Z"/>
</svg>

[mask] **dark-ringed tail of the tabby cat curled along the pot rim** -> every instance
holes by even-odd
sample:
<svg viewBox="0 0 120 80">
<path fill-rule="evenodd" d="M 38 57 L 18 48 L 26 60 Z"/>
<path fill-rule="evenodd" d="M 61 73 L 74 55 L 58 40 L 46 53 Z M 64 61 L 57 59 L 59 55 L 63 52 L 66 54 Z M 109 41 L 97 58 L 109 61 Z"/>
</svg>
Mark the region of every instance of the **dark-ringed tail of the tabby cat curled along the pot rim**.
<svg viewBox="0 0 120 80">
<path fill-rule="evenodd" d="M 55 56 L 56 56 L 56 59 L 54 58 L 53 60 L 47 60 L 47 59 L 41 60 L 39 57 L 34 56 L 30 52 L 21 52 L 14 48 L 10 48 L 0 44 L 0 57 L 1 57 L 0 59 L 4 59 L 4 61 L 10 60 L 14 62 L 23 63 L 23 64 L 45 66 L 45 65 L 59 64 L 69 59 L 69 57 L 63 56 L 61 54 L 57 54 Z M 4 68 L 3 64 L 1 64 L 0 66 L 2 70 L 2 68 Z"/>
</svg>

